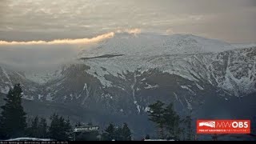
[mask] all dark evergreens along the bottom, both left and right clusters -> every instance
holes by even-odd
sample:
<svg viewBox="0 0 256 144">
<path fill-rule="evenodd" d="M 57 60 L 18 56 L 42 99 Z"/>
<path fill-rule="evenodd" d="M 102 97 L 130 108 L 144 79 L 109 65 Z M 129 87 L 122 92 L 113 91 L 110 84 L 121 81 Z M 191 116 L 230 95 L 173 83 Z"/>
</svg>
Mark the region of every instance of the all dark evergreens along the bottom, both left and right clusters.
<svg viewBox="0 0 256 144">
<path fill-rule="evenodd" d="M 117 140 L 130 141 L 132 139 L 131 130 L 126 122 L 122 126 L 115 126 L 110 123 L 100 134 L 95 132 L 73 133 L 74 127 L 83 126 L 78 122 L 75 126 L 70 124 L 69 118 L 64 118 L 58 114 L 52 114 L 47 122 L 46 118 L 36 116 L 32 122 L 26 121 L 26 112 L 22 107 L 22 87 L 20 84 L 14 85 L 4 98 L 6 102 L 1 106 L 0 115 L 0 139 L 32 137 L 32 138 L 53 138 L 55 140 Z M 174 110 L 172 103 L 166 105 L 157 101 L 149 106 L 147 111 L 149 120 L 157 127 L 158 138 L 175 140 L 192 140 L 193 131 L 191 117 L 181 118 Z M 50 125 L 48 126 L 48 123 Z M 93 126 L 89 122 L 86 126 Z M 150 135 L 146 135 L 150 138 Z"/>
</svg>

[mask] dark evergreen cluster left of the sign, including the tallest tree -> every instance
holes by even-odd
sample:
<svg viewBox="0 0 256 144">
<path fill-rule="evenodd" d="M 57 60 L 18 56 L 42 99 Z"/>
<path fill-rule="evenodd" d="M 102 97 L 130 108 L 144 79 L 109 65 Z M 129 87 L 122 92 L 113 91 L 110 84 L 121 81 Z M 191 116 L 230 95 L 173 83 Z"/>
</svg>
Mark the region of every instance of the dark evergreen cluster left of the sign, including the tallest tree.
<svg viewBox="0 0 256 144">
<path fill-rule="evenodd" d="M 4 106 L 1 106 L 0 117 L 0 139 L 32 137 L 32 138 L 53 138 L 68 140 L 72 126 L 68 118 L 53 114 L 50 116 L 50 126 L 46 118 L 36 116 L 31 123 L 26 122 L 26 112 L 22 107 L 22 87 L 14 85 L 10 89 Z"/>
</svg>

